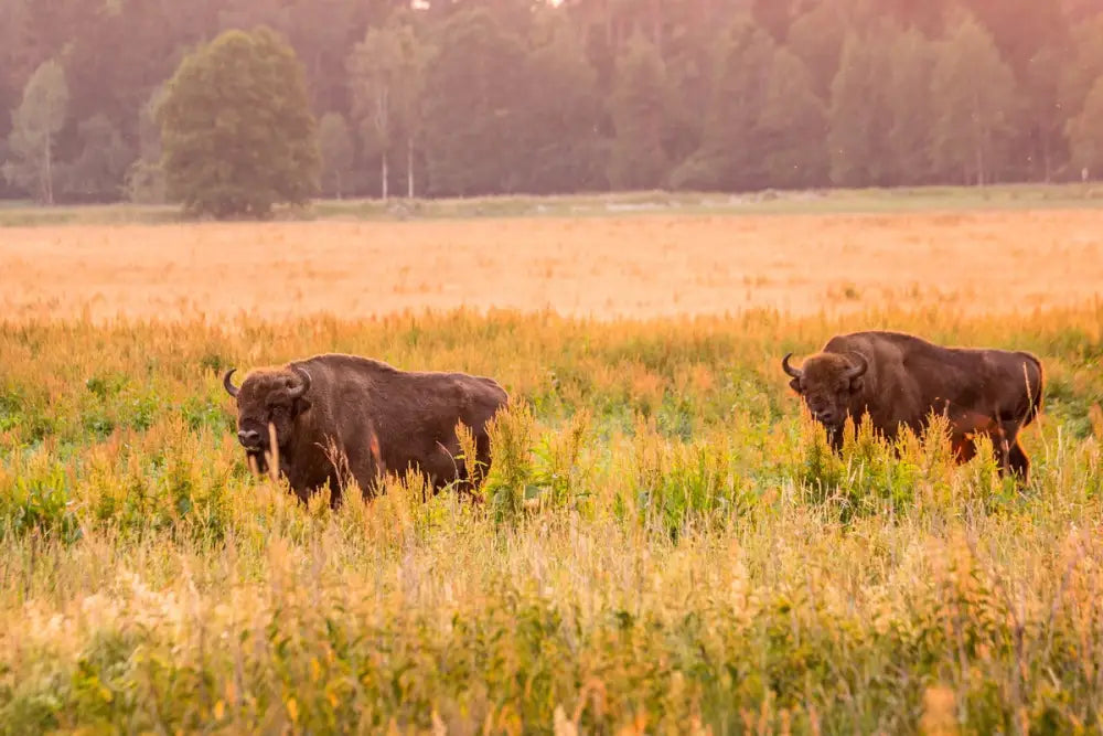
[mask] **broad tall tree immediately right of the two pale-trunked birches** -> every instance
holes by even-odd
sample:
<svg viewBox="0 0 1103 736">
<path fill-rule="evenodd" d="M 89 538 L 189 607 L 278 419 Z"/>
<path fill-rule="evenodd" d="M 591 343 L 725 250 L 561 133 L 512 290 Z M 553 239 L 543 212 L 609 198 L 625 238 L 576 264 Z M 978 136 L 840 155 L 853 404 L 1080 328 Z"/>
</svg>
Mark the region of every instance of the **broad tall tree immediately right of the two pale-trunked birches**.
<svg viewBox="0 0 1103 736">
<path fill-rule="evenodd" d="M 525 46 L 488 8 L 460 8 L 443 21 L 439 52 L 426 71 L 430 192 L 516 192 L 527 178 Z"/>
</svg>

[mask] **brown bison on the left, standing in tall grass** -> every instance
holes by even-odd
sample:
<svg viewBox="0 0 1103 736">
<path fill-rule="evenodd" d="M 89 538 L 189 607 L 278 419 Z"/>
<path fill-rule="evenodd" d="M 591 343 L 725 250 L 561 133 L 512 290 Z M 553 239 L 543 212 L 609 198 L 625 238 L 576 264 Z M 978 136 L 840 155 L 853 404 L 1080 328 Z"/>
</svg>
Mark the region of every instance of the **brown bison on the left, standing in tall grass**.
<svg viewBox="0 0 1103 736">
<path fill-rule="evenodd" d="M 457 424 L 471 429 L 476 460 L 490 467 L 486 423 L 508 396 L 495 381 L 462 373 L 414 373 L 354 355 L 315 355 L 249 373 L 226 392 L 237 399 L 237 439 L 260 472 L 267 457 L 306 500 L 326 482 L 334 505 L 350 477 L 365 492 L 387 472 L 413 469 L 439 491 L 471 480 L 458 459 Z M 269 433 L 275 433 L 275 447 Z"/>
</svg>

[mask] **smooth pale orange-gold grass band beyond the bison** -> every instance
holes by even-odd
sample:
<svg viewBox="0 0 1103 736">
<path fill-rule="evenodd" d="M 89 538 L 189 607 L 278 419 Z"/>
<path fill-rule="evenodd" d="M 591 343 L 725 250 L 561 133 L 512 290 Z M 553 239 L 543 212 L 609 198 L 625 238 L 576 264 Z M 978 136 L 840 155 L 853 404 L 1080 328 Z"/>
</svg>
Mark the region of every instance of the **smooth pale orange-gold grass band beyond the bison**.
<svg viewBox="0 0 1103 736">
<path fill-rule="evenodd" d="M 0 274 L 9 318 L 1008 313 L 1099 296 L 1103 211 L 43 226 Z"/>
</svg>

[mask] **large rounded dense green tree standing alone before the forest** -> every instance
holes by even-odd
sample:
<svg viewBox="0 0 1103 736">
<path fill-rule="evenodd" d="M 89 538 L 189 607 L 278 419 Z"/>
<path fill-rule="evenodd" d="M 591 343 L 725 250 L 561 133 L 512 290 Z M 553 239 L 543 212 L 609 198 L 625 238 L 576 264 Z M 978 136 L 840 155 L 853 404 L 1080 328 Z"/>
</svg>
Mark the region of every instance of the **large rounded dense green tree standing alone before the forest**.
<svg viewBox="0 0 1103 736">
<path fill-rule="evenodd" d="M 158 119 L 169 194 L 190 213 L 265 217 L 318 191 L 302 66 L 270 29 L 227 31 L 189 55 Z"/>
</svg>

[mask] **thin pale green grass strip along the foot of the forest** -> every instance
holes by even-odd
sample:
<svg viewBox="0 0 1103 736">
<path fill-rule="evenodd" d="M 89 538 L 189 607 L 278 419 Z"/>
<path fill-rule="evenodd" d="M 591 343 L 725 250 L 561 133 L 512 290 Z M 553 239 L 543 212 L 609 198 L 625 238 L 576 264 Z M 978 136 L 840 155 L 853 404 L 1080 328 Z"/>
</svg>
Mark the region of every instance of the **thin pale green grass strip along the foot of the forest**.
<svg viewBox="0 0 1103 736">
<path fill-rule="evenodd" d="M 1099 184 L 1002 184 L 899 189 L 765 191 L 746 194 L 632 192 L 561 196 L 486 196 L 416 200 L 320 200 L 306 209 L 285 209 L 279 220 L 440 220 L 522 216 L 609 216 L 684 214 L 832 214 L 927 210 L 1024 210 L 1103 206 Z M 39 207 L 0 205 L 0 227 L 76 224 L 158 224 L 182 222 L 168 205 L 110 204 Z"/>
</svg>

